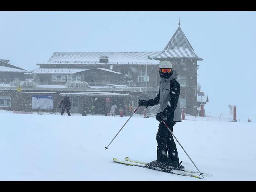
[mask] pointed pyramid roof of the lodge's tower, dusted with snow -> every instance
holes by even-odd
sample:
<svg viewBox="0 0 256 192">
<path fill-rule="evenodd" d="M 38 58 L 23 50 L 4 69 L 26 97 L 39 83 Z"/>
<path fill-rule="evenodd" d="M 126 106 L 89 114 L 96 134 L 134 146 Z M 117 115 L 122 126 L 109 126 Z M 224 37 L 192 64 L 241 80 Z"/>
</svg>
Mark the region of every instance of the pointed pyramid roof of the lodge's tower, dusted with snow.
<svg viewBox="0 0 256 192">
<path fill-rule="evenodd" d="M 155 59 L 164 58 L 188 58 L 203 60 L 194 52 L 194 49 L 186 38 L 184 32 L 181 30 L 180 26 L 178 27 L 164 50 L 155 57 Z"/>
</svg>

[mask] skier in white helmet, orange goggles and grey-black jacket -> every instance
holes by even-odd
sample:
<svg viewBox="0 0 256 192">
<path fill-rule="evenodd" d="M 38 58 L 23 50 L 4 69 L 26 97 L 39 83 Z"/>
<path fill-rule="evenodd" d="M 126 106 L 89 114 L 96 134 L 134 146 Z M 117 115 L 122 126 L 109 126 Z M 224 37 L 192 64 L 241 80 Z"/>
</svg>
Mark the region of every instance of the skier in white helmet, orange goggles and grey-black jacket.
<svg viewBox="0 0 256 192">
<path fill-rule="evenodd" d="M 160 104 L 160 108 L 156 112 L 156 120 L 160 121 L 158 132 L 156 134 L 156 141 L 158 144 L 157 159 L 146 164 L 146 166 L 160 167 L 164 170 L 172 170 L 173 168 L 182 169 L 184 166 L 179 163 L 174 138 L 162 123 L 162 120 L 164 120 L 172 131 L 176 122 L 181 122 L 181 109 L 180 103 L 178 102 L 180 96 L 180 84 L 176 81 L 178 72 L 172 70 L 171 62 L 162 61 L 159 65 L 159 74 L 159 94 L 154 99 L 139 100 L 138 102 L 139 106 L 146 107 Z"/>
</svg>

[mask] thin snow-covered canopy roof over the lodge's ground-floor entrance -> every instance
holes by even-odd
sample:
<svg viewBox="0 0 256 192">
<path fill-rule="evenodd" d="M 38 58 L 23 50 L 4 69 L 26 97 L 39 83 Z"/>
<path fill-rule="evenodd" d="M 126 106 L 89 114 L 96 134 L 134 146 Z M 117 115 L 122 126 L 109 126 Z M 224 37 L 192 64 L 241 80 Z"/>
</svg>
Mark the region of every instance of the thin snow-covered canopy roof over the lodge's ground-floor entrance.
<svg viewBox="0 0 256 192">
<path fill-rule="evenodd" d="M 89 97 L 105 97 L 105 96 L 129 96 L 128 94 L 112 93 L 112 92 L 77 92 L 77 93 L 60 93 L 60 96 L 89 96 Z"/>
</svg>

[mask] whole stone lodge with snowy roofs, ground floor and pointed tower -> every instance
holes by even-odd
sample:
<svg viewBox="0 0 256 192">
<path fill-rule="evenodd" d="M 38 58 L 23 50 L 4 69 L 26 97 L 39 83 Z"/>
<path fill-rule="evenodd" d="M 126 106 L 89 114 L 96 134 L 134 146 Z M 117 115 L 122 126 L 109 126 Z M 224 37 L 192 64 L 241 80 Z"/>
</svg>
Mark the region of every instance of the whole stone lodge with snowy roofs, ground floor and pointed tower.
<svg viewBox="0 0 256 192">
<path fill-rule="evenodd" d="M 124 108 L 126 104 L 136 107 L 139 99 L 154 98 L 158 94 L 159 63 L 163 60 L 169 60 L 173 70 L 179 74 L 177 81 L 181 86 L 181 108 L 184 108 L 187 114 L 198 115 L 200 104 L 198 102 L 197 70 L 199 66 L 197 62 L 203 59 L 194 52 L 180 24 L 162 51 L 54 52 L 47 62 L 36 64 L 39 68 L 30 74 L 38 85 L 48 85 L 48 87 L 22 88 L 24 98 L 28 100 L 26 105 L 19 106 L 20 104 L 10 103 L 10 109 L 17 110 L 22 106 L 27 106 L 25 110 L 29 111 L 33 109 L 33 101 L 48 99 L 49 106 L 45 106 L 45 109 L 42 106 L 41 108 L 34 106 L 34 111 L 54 112 L 58 100 L 63 95 L 70 96 L 71 112 L 81 113 L 85 103 L 90 105 L 94 103 L 93 105 L 98 104 L 98 108 L 105 106 L 104 109 L 98 111 L 99 114 L 104 114 L 106 108 L 111 106 L 111 103 L 106 103 L 109 98 L 120 104 L 118 110 Z M 0 97 L 5 100 L 14 96 L 18 98 L 18 93 L 14 89 L 2 89 Z M 6 91 L 9 91 L 8 95 Z M 98 101 L 95 102 L 95 99 Z M 106 105 L 110 106 L 106 107 Z"/>
</svg>

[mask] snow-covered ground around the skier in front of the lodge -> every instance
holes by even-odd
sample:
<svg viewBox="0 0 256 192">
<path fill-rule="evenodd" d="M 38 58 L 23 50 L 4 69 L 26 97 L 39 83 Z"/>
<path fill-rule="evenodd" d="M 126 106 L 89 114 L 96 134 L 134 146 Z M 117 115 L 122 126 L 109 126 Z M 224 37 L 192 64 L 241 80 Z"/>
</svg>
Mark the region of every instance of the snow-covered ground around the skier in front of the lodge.
<svg viewBox="0 0 256 192">
<path fill-rule="evenodd" d="M 206 117 L 207 118 L 207 117 Z M 255 181 L 256 126 L 184 120 L 174 135 L 205 180 L 114 163 L 156 159 L 155 118 L 12 114 L 0 111 L 1 181 Z M 196 168 L 176 142 L 183 165 Z"/>
</svg>

